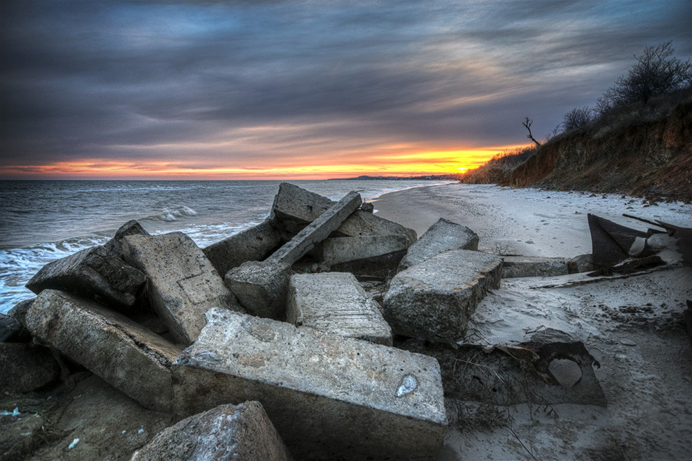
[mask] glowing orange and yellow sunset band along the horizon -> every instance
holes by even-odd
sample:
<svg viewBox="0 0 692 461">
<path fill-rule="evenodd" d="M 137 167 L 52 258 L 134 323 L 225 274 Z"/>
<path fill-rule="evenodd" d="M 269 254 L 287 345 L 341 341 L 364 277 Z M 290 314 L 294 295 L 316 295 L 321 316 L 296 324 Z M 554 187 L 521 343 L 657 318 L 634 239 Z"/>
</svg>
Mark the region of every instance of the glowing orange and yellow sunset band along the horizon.
<svg viewBox="0 0 692 461">
<path fill-rule="evenodd" d="M 426 174 L 464 173 L 505 149 L 517 146 L 486 149 L 417 151 L 403 145 L 392 145 L 377 153 L 345 153 L 336 156 L 301 158 L 289 156 L 265 164 L 260 160 L 246 162 L 248 166 L 219 166 L 215 160 L 197 158 L 199 166 L 190 167 L 188 160 L 113 160 L 90 158 L 70 162 L 51 162 L 34 165 L 9 165 L 2 168 L 3 176 L 27 178 L 93 178 L 93 179 L 178 179 L 178 180 L 273 180 L 329 179 L 352 176 L 420 176 Z M 397 152 L 397 153 L 394 153 Z M 354 161 L 344 161 L 344 157 Z M 304 163 L 311 160 L 311 163 Z"/>
</svg>

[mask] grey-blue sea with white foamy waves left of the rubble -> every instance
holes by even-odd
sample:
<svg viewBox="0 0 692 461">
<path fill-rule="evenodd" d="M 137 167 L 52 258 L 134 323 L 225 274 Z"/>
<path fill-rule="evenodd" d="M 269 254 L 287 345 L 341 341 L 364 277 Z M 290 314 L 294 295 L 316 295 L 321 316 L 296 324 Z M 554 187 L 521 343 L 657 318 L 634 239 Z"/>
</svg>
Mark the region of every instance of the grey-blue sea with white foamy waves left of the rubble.
<svg viewBox="0 0 692 461">
<path fill-rule="evenodd" d="M 363 200 L 430 180 L 297 180 L 303 189 L 339 200 Z M 280 181 L 0 181 L 0 312 L 35 296 L 24 285 L 44 265 L 102 245 L 136 219 L 149 234 L 184 232 L 206 247 L 261 223 Z"/>
</svg>

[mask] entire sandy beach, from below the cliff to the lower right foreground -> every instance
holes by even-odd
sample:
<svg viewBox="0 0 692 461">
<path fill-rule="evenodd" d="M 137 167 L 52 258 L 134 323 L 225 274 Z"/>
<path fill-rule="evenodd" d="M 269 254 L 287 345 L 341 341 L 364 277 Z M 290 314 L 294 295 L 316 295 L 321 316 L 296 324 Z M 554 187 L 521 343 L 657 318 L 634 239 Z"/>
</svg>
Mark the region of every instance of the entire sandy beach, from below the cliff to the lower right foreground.
<svg viewBox="0 0 692 461">
<path fill-rule="evenodd" d="M 642 202 L 450 184 L 387 194 L 374 206 L 419 236 L 444 217 L 473 229 L 479 250 L 529 256 L 590 253 L 588 213 L 641 230 L 650 226 L 621 215 L 692 227 L 692 205 Z M 466 340 L 516 344 L 549 328 L 565 332 L 600 362 L 594 372 L 608 406 L 497 406 L 491 424 L 480 424 L 488 406 L 448 411 L 450 431 L 437 459 L 691 459 L 692 348 L 683 311 L 692 270 L 675 267 L 675 252 L 662 257 L 674 267 L 594 283 L 585 274 L 503 279 L 478 305 Z"/>
</svg>

